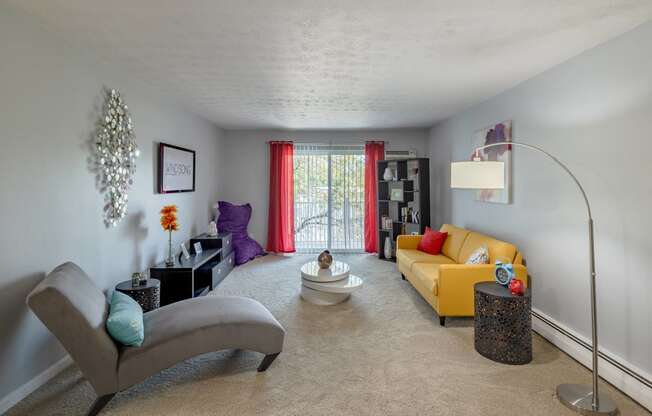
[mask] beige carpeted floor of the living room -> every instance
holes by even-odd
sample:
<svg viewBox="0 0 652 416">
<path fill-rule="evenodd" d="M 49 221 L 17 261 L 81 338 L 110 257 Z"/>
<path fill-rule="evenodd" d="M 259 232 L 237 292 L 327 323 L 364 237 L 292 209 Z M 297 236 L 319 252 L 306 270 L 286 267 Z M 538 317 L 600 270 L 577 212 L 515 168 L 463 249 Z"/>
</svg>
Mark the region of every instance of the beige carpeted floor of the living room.
<svg viewBox="0 0 652 416">
<path fill-rule="evenodd" d="M 287 331 L 266 373 L 261 355 L 223 351 L 188 360 L 117 395 L 106 415 L 574 415 L 554 397 L 590 373 L 541 337 L 534 361 L 508 366 L 473 349 L 473 321 L 439 326 L 433 310 L 393 263 L 338 258 L 365 279 L 349 301 L 311 305 L 299 297 L 299 267 L 314 256 L 267 256 L 232 272 L 215 295 L 250 296 Z M 609 385 L 621 414 L 649 415 Z M 8 415 L 82 415 L 94 399 L 76 367 Z"/>
</svg>

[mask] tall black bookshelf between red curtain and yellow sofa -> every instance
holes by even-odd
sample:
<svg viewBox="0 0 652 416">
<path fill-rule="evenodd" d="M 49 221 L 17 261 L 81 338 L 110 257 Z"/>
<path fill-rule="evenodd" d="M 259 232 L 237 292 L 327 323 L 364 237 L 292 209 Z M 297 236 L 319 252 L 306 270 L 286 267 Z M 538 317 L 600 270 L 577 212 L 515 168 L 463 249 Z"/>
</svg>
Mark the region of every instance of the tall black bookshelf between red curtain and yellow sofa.
<svg viewBox="0 0 652 416">
<path fill-rule="evenodd" d="M 428 158 L 380 160 L 378 170 L 378 257 L 385 259 L 385 239 L 392 241 L 396 258 L 396 238 L 401 234 L 423 234 L 430 226 L 430 167 Z M 383 179 L 386 168 L 392 180 Z M 405 215 L 406 212 L 408 215 Z M 416 217 L 412 213 L 417 213 Z M 385 219 L 391 219 L 391 227 Z M 389 221 L 387 221 L 389 223 Z"/>
</svg>

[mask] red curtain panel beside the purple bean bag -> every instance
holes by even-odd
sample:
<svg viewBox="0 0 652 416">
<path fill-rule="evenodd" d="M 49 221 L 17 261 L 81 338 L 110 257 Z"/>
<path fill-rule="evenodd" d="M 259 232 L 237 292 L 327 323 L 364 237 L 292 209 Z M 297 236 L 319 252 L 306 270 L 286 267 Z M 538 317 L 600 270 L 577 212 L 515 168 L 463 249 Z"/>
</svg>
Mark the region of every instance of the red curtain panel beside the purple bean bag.
<svg viewBox="0 0 652 416">
<path fill-rule="evenodd" d="M 267 251 L 294 253 L 294 146 L 269 143 Z"/>
</svg>

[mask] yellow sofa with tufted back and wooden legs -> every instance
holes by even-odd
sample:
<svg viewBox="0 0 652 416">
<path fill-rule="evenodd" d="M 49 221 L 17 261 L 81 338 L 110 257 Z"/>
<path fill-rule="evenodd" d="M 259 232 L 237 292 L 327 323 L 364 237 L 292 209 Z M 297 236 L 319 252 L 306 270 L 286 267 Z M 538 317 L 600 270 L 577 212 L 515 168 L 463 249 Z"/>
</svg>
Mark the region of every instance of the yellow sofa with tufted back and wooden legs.
<svg viewBox="0 0 652 416">
<path fill-rule="evenodd" d="M 523 257 L 513 244 L 483 234 L 444 224 L 448 237 L 441 254 L 417 250 L 421 235 L 401 235 L 396 242 L 396 265 L 403 279 L 428 301 L 444 326 L 447 316 L 473 316 L 473 285 L 494 280 L 496 260 L 513 263 L 517 279 L 527 286 Z M 489 249 L 489 264 L 464 264 L 478 248 Z"/>
</svg>

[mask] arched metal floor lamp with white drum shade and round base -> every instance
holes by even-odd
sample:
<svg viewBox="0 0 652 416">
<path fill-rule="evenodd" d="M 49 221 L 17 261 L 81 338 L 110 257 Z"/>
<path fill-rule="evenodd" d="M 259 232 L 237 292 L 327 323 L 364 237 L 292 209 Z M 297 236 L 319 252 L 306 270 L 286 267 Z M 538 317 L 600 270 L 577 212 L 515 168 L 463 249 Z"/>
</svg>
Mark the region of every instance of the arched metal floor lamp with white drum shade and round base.
<svg viewBox="0 0 652 416">
<path fill-rule="evenodd" d="M 484 161 L 480 158 L 480 150 L 495 147 L 512 145 L 524 147 L 542 153 L 559 165 L 573 182 L 577 185 L 584 202 L 589 220 L 589 269 L 591 281 L 591 338 L 593 344 L 593 385 L 581 384 L 560 384 L 557 386 L 557 397 L 559 401 L 568 408 L 583 415 L 616 415 L 618 409 L 616 404 L 606 395 L 598 393 L 598 328 L 597 328 L 597 305 L 595 300 L 595 250 L 593 242 L 593 217 L 591 216 L 591 205 L 584 192 L 584 188 L 575 175 L 550 153 L 536 146 L 519 142 L 498 142 L 477 147 L 474 150 L 472 161 L 451 163 L 451 188 L 457 189 L 504 189 L 505 188 L 505 165 L 503 162 Z"/>
</svg>

